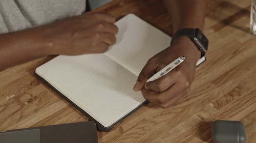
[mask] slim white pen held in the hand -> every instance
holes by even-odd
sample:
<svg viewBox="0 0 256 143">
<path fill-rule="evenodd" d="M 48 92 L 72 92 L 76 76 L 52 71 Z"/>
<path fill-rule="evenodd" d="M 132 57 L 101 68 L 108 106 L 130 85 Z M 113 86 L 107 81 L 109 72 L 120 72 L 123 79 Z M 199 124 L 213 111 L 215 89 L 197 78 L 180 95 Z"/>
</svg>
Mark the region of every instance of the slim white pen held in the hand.
<svg viewBox="0 0 256 143">
<path fill-rule="evenodd" d="M 175 67 L 180 65 L 184 60 L 185 60 L 185 57 L 184 56 L 180 56 L 179 58 L 174 60 L 172 63 L 170 63 L 169 65 L 165 66 L 163 69 L 161 69 L 160 71 L 155 73 L 153 76 L 151 76 L 151 78 L 148 78 L 146 82 L 150 82 L 150 81 L 153 81 L 153 80 L 156 80 L 156 79 L 160 78 L 161 76 L 164 76 L 165 74 L 167 74 L 170 71 L 172 71 Z"/>
</svg>

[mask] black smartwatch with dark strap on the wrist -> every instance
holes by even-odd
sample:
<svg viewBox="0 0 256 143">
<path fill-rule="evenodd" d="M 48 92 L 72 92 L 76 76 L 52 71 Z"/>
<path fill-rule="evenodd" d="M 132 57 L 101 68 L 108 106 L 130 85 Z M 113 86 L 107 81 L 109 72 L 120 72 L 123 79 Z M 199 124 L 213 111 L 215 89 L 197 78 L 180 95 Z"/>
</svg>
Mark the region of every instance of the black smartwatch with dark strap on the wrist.
<svg viewBox="0 0 256 143">
<path fill-rule="evenodd" d="M 199 28 L 183 28 L 177 31 L 172 39 L 172 42 L 180 36 L 187 36 L 193 43 L 197 46 L 198 50 L 201 51 L 201 58 L 205 55 L 208 49 L 208 39 L 204 34 L 199 30 Z"/>
</svg>

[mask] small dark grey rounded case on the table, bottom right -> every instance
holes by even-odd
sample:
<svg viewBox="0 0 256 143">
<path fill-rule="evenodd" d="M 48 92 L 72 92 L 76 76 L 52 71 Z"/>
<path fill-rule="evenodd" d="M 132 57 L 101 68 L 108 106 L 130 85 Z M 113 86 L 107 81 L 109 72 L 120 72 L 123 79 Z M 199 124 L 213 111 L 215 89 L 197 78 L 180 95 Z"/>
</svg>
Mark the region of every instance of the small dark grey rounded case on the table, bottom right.
<svg viewBox="0 0 256 143">
<path fill-rule="evenodd" d="M 244 124 L 239 121 L 215 121 L 211 126 L 215 143 L 245 143 Z"/>
</svg>

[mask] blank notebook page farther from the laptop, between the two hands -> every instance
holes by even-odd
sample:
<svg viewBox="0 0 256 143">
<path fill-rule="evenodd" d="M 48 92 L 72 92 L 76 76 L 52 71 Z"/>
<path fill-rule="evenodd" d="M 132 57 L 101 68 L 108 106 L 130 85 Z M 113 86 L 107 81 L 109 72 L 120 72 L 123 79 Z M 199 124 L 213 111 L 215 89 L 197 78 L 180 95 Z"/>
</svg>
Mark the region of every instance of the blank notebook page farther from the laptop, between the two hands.
<svg viewBox="0 0 256 143">
<path fill-rule="evenodd" d="M 139 75 L 147 60 L 170 45 L 171 38 L 134 14 L 116 22 L 117 42 L 105 54 Z"/>
</svg>

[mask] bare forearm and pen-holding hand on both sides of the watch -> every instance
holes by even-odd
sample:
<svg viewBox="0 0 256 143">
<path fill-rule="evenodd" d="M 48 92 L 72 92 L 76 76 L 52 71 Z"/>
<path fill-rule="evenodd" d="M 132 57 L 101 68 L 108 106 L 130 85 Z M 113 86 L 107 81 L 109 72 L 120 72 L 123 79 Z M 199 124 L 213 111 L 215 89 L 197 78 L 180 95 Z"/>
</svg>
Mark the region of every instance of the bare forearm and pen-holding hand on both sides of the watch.
<svg viewBox="0 0 256 143">
<path fill-rule="evenodd" d="M 181 28 L 200 28 L 204 25 L 204 0 L 163 0 L 167 11 L 172 15 L 173 32 Z M 176 38 L 172 45 L 154 55 L 140 72 L 134 91 L 141 91 L 147 101 L 167 108 L 185 96 L 193 82 L 196 63 L 201 52 L 188 37 Z M 161 78 L 146 82 L 152 73 L 162 69 L 179 56 L 186 60 L 174 71 Z"/>
</svg>

